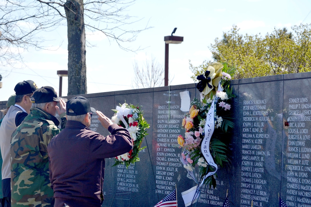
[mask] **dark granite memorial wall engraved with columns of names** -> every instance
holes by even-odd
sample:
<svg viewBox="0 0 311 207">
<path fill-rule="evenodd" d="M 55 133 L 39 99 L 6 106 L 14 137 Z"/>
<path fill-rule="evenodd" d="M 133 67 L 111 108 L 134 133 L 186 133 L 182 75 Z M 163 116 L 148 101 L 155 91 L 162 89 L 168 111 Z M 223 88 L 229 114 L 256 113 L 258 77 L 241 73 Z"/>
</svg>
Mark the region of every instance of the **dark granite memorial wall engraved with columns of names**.
<svg viewBox="0 0 311 207">
<path fill-rule="evenodd" d="M 311 72 L 232 80 L 235 129 L 230 137 L 230 163 L 217 171 L 217 187 L 203 186 L 197 204 L 222 206 L 228 189 L 230 206 L 278 206 L 278 195 L 288 206 L 311 206 Z M 199 97 L 196 84 L 83 94 L 91 106 L 112 117 L 117 105 L 141 105 L 150 124 L 140 162 L 124 168 L 106 159 L 104 207 L 154 206 L 177 187 L 195 186 L 179 157 L 177 136 L 185 102 Z M 70 99 L 72 96 L 66 98 Z M 0 102 L 5 108 L 6 101 Z M 186 107 L 187 108 L 187 107 Z M 2 117 L 2 114 L 1 114 Z M 97 116 L 93 131 L 108 135 Z M 229 138 L 229 137 L 228 137 Z"/>
</svg>

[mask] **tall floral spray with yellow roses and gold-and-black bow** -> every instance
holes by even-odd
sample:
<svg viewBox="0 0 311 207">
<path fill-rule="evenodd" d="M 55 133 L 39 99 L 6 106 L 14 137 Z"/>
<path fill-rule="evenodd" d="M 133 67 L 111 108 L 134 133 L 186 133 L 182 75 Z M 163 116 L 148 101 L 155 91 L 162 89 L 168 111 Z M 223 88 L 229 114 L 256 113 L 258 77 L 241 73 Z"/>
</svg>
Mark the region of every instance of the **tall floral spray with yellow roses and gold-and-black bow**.
<svg viewBox="0 0 311 207">
<path fill-rule="evenodd" d="M 214 188 L 216 187 L 215 177 L 217 174 L 215 172 L 214 176 L 208 175 L 208 173 L 213 174 L 215 169 L 207 163 L 203 156 L 201 144 L 204 138 L 207 114 L 213 103 L 215 107 L 213 116 L 215 129 L 211 135 L 209 150 L 217 166 L 223 167 L 225 163 L 229 162 L 227 157 L 227 145 L 230 142 L 229 131 L 234 128 L 230 103 L 236 97 L 232 94 L 230 79 L 234 71 L 235 69 L 228 67 L 226 63 L 213 63 L 207 67 L 205 75 L 197 76 L 197 79 L 200 80 L 197 84 L 197 89 L 201 92 L 200 101 L 194 98 L 191 102 L 189 113 L 185 114 L 182 122 L 185 136 L 179 135 L 177 138 L 180 147 L 183 148 L 181 154 L 183 167 L 187 169 L 190 175 L 192 174 L 193 180 L 196 181 L 193 171 L 198 166 L 202 182 L 209 183 L 209 186 L 213 185 Z"/>
</svg>

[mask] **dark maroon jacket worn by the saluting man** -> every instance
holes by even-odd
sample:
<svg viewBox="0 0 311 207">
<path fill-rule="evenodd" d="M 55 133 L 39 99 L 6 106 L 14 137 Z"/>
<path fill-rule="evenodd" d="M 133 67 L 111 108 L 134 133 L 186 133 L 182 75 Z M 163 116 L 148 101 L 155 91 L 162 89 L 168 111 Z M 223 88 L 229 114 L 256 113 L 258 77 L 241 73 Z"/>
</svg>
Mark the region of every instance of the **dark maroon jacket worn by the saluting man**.
<svg viewBox="0 0 311 207">
<path fill-rule="evenodd" d="M 67 121 L 65 129 L 48 145 L 51 187 L 54 198 L 71 200 L 69 206 L 101 206 L 104 158 L 113 158 L 132 149 L 129 132 L 117 124 L 109 136 L 91 131 L 81 122 Z M 55 203 L 56 205 L 56 203 Z"/>
</svg>

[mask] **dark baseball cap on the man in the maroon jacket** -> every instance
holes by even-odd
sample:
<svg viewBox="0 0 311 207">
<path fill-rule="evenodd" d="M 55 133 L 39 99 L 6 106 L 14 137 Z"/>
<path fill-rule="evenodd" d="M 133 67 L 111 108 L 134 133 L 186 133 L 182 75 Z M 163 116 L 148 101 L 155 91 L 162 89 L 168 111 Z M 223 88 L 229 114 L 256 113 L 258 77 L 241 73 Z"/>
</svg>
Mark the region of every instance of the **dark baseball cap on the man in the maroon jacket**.
<svg viewBox="0 0 311 207">
<path fill-rule="evenodd" d="M 71 109 L 73 112 L 68 112 Z M 66 115 L 79 116 L 86 113 L 96 113 L 95 108 L 90 106 L 89 100 L 83 96 L 77 96 L 69 99 L 66 104 Z"/>
</svg>

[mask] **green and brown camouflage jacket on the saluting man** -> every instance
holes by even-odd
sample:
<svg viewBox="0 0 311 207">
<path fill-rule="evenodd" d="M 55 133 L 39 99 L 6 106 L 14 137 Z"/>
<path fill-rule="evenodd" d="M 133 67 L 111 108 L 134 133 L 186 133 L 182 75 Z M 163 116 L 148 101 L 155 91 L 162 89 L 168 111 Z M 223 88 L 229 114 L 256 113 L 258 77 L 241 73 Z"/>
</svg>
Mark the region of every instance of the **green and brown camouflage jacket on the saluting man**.
<svg viewBox="0 0 311 207">
<path fill-rule="evenodd" d="M 53 206 L 47 145 L 60 132 L 50 120 L 30 117 L 11 141 L 11 206 Z"/>
</svg>

